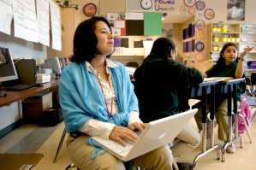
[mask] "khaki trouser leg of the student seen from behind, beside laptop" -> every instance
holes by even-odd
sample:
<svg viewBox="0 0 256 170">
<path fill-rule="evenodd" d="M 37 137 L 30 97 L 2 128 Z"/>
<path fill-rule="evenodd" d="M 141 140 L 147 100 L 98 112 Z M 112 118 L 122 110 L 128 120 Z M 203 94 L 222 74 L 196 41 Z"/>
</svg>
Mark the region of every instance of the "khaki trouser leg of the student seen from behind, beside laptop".
<svg viewBox="0 0 256 170">
<path fill-rule="evenodd" d="M 184 155 L 190 153 L 193 149 L 199 146 L 201 136 L 199 132 L 188 123 L 183 127 L 176 138 L 178 138 L 178 142 L 170 148 L 172 150 L 172 155 L 177 162 L 186 162 Z"/>
</svg>

